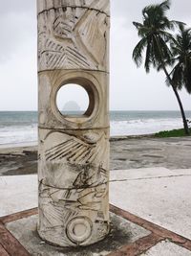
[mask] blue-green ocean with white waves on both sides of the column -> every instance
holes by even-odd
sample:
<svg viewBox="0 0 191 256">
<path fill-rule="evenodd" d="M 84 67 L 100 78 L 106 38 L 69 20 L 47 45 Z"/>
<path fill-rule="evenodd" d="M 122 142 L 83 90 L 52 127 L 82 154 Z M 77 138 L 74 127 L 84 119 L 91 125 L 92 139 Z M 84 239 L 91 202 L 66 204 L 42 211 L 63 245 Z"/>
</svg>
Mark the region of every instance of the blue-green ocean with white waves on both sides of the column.
<svg viewBox="0 0 191 256">
<path fill-rule="evenodd" d="M 191 120 L 191 111 L 186 111 Z M 182 128 L 180 111 L 111 111 L 111 136 Z M 0 111 L 0 145 L 37 142 L 36 111 Z"/>
</svg>

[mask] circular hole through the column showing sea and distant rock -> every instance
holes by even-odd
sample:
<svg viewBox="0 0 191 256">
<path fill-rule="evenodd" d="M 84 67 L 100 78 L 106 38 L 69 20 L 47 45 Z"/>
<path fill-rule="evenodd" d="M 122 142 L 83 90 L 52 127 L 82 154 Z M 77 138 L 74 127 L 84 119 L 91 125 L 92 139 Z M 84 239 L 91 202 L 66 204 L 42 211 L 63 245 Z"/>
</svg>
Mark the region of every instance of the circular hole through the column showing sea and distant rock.
<svg viewBox="0 0 191 256">
<path fill-rule="evenodd" d="M 84 86 L 77 83 L 62 85 L 57 91 L 56 105 L 66 117 L 89 116 L 90 95 Z"/>
</svg>

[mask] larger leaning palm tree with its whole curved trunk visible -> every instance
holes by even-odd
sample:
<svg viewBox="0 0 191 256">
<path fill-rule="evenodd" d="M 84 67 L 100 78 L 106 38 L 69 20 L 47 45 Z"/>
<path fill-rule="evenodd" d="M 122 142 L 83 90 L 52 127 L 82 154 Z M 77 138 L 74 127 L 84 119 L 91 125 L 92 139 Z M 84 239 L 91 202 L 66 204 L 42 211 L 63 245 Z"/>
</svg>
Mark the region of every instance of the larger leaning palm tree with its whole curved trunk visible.
<svg viewBox="0 0 191 256">
<path fill-rule="evenodd" d="M 172 63 L 173 54 L 167 42 L 174 39 L 173 35 L 167 32 L 173 30 L 176 25 L 182 23 L 174 20 L 169 20 L 166 16 L 166 11 L 170 9 L 170 1 L 163 1 L 158 5 L 150 5 L 142 10 L 143 23 L 133 22 L 138 29 L 138 36 L 141 37 L 137 46 L 133 51 L 133 59 L 140 66 L 142 63 L 142 54 L 145 51 L 144 67 L 146 72 L 150 71 L 153 66 L 158 70 L 162 69 L 165 73 L 168 83 L 171 85 L 178 103 L 183 121 L 185 134 L 189 134 L 189 128 L 186 121 L 183 106 L 180 101 L 178 87 L 173 83 L 170 74 L 167 71 L 167 63 Z"/>
</svg>

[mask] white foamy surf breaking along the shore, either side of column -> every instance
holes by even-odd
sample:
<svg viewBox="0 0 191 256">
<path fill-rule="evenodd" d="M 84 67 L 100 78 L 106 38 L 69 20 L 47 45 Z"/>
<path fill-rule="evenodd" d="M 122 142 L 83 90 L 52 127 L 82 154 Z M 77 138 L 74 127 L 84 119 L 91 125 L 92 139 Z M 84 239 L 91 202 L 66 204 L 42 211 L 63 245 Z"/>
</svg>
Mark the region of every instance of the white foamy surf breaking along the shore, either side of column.
<svg viewBox="0 0 191 256">
<path fill-rule="evenodd" d="M 111 121 L 111 136 L 150 134 L 182 128 L 180 118 Z M 37 124 L 0 128 L 0 145 L 37 142 Z"/>
</svg>

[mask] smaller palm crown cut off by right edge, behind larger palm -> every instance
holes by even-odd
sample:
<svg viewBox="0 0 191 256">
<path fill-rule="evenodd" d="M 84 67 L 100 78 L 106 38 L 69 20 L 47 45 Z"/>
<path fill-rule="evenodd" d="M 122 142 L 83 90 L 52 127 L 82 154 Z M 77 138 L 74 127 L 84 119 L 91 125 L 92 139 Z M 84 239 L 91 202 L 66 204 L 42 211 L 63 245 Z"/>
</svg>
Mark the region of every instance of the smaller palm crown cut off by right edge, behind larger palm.
<svg viewBox="0 0 191 256">
<path fill-rule="evenodd" d="M 191 28 L 180 24 L 180 32 L 171 42 L 171 49 L 176 63 L 170 74 L 173 84 L 179 89 L 184 86 L 191 94 Z"/>
</svg>

